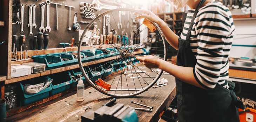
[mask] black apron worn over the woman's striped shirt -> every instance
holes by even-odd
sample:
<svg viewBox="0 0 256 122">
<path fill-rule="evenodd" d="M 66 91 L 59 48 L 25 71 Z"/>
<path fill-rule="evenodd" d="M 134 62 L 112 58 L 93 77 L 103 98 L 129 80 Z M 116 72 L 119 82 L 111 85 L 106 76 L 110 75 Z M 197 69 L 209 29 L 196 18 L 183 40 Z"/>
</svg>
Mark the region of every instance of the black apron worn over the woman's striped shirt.
<svg viewBox="0 0 256 122">
<path fill-rule="evenodd" d="M 198 12 L 198 8 L 206 0 L 197 5 L 191 20 L 186 40 L 178 39 L 178 66 L 195 67 L 196 57 L 190 48 L 190 31 Z M 179 122 L 239 122 L 238 108 L 244 109 L 238 100 L 234 82 L 228 82 L 229 89 L 216 84 L 211 90 L 205 90 L 187 84 L 176 78 L 176 96 Z M 238 107 L 238 108 L 237 108 Z"/>
</svg>

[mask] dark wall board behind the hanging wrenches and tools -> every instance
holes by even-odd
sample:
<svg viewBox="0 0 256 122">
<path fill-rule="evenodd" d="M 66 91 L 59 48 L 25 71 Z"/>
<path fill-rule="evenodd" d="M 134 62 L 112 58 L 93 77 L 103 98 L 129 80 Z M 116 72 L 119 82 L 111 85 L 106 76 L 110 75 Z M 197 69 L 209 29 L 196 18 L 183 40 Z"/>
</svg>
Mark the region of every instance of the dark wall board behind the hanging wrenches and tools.
<svg viewBox="0 0 256 122">
<path fill-rule="evenodd" d="M 21 25 L 20 24 L 13 24 L 12 26 L 12 35 L 17 35 L 18 40 L 20 35 L 26 36 L 26 43 L 25 46 L 28 46 L 28 50 L 32 50 L 33 46 L 33 38 L 34 36 L 38 36 L 39 28 L 41 26 L 41 2 L 46 2 L 46 0 L 21 0 L 21 3 L 24 4 L 24 21 L 23 21 L 23 30 L 24 33 L 21 33 Z M 50 4 L 50 32 L 44 32 L 43 34 L 49 34 L 49 43 L 48 48 L 61 48 L 62 45 L 59 43 L 66 42 L 71 43 L 72 38 L 75 39 L 74 43 L 79 42 L 79 31 L 73 30 L 73 19 L 74 13 L 78 12 L 78 23 L 80 24 L 82 29 L 85 29 L 87 24 L 82 24 L 80 21 L 91 21 L 90 19 L 83 19 L 82 15 L 80 14 L 80 2 L 88 2 L 91 3 L 92 0 L 50 0 L 50 2 L 61 3 L 62 5 L 58 5 L 58 26 L 59 30 L 56 30 L 56 5 Z M 36 4 L 36 28 L 32 29 L 33 36 L 29 36 L 29 27 L 28 25 L 28 17 L 29 17 L 29 4 Z M 103 3 L 103 2 L 102 2 Z M 104 3 L 107 4 L 107 3 Z M 65 5 L 74 6 L 75 8 L 71 8 L 71 18 L 70 18 L 70 27 L 72 30 L 68 30 L 69 26 L 69 7 Z M 116 4 L 115 4 L 116 5 Z M 118 6 L 120 7 L 120 6 Z M 102 9 L 101 11 L 97 12 L 94 10 L 96 16 L 100 13 L 107 11 L 106 9 Z M 14 16 L 14 14 L 13 14 Z M 114 15 L 118 16 L 118 15 Z M 33 20 L 33 19 L 32 19 Z M 114 24 L 114 23 L 113 23 Z M 44 15 L 44 27 L 47 26 L 47 5 L 45 6 L 45 15 Z M 100 23 L 97 23 L 98 28 L 102 31 L 102 26 Z M 16 45 L 16 48 L 19 47 L 19 41 Z M 36 50 L 38 49 L 38 44 L 36 44 Z M 19 50 L 19 48 L 18 48 Z"/>
</svg>

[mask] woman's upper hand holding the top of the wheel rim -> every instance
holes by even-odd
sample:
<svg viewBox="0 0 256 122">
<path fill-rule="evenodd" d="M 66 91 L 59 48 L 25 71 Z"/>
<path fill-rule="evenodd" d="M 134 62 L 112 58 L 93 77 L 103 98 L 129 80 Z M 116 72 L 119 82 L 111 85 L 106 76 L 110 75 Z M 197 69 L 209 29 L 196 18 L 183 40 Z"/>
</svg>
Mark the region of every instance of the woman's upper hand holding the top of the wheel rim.
<svg viewBox="0 0 256 122">
<path fill-rule="evenodd" d="M 136 16 L 135 19 L 148 18 L 151 21 L 156 22 L 157 24 L 162 22 L 162 19 L 160 19 L 157 15 L 155 15 L 150 10 L 138 10 L 138 11 L 141 12 L 142 14 L 134 13 L 135 15 L 139 15 L 139 16 Z"/>
</svg>

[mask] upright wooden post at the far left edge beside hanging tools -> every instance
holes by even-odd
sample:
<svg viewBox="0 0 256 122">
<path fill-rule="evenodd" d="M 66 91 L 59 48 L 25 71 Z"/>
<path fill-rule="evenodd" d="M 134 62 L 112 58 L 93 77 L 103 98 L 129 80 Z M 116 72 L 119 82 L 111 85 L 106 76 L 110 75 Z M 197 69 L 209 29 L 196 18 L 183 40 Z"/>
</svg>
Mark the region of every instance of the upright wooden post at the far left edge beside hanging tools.
<svg viewBox="0 0 256 122">
<path fill-rule="evenodd" d="M 0 45 L 0 74 L 7 76 L 7 79 L 11 78 L 11 53 L 12 48 L 12 0 L 2 0 L 0 2 L 0 8 L 2 8 L 1 20 L 5 23 L 4 26 L 0 26 L 0 37 L 4 44 Z"/>
</svg>

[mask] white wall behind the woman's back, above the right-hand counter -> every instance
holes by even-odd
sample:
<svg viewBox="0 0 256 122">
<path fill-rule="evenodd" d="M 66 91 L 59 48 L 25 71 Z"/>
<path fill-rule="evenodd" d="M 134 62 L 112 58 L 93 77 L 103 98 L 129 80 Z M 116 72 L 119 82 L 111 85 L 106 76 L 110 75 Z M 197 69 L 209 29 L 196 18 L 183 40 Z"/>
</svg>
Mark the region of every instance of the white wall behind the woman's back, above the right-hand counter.
<svg viewBox="0 0 256 122">
<path fill-rule="evenodd" d="M 256 45 L 256 19 L 235 19 L 235 33 L 232 44 Z M 248 57 L 254 59 L 256 47 L 232 46 L 229 57 L 241 58 Z"/>
</svg>

